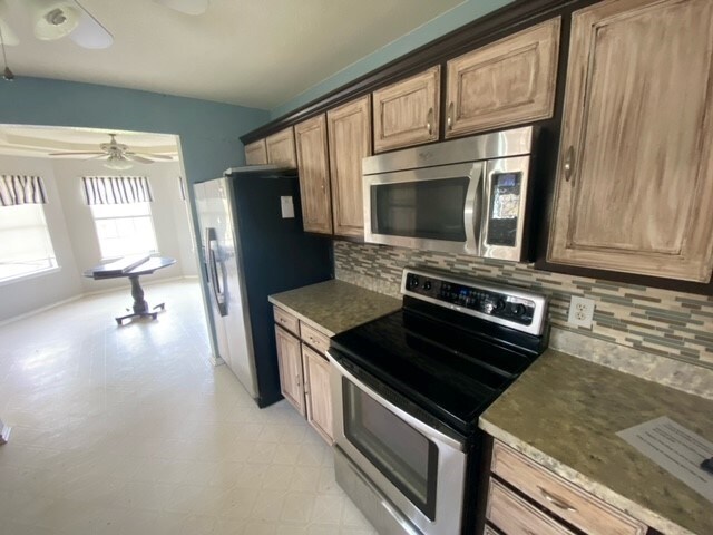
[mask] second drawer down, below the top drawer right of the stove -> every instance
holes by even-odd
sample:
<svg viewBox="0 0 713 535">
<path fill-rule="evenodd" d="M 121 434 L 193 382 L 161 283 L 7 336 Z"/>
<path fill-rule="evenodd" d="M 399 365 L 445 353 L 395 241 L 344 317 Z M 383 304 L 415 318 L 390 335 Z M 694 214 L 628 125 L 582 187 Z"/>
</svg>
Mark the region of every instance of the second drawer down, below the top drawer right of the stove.
<svg viewBox="0 0 713 535">
<path fill-rule="evenodd" d="M 574 535 L 494 479 L 488 489 L 486 517 L 508 535 Z"/>
</svg>

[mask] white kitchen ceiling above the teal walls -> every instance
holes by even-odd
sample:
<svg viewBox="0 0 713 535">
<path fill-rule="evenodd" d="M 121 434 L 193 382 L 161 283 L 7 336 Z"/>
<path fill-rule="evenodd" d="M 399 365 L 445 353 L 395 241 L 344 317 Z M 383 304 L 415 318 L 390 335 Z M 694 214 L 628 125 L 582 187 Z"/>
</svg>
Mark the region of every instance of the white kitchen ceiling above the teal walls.
<svg viewBox="0 0 713 535">
<path fill-rule="evenodd" d="M 28 0 L 4 0 L 16 76 L 271 109 L 463 0 L 211 0 L 187 16 L 149 0 L 82 0 L 114 45 L 39 41 Z M 0 80 L 1 81 L 1 80 Z"/>
</svg>

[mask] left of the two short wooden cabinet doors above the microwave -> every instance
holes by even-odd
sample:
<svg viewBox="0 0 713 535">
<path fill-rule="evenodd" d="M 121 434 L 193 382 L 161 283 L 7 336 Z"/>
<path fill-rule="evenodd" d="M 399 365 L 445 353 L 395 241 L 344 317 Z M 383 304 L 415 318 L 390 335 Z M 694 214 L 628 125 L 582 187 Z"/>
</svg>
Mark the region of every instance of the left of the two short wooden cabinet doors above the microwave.
<svg viewBox="0 0 713 535">
<path fill-rule="evenodd" d="M 372 94 L 374 153 L 438 139 L 441 68 Z"/>
</svg>

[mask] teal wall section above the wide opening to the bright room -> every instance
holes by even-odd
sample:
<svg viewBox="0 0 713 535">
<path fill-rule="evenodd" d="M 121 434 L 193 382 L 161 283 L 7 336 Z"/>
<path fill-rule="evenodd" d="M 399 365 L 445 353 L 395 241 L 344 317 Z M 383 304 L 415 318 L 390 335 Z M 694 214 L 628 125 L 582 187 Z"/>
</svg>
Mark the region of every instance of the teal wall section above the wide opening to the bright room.
<svg viewBox="0 0 713 535">
<path fill-rule="evenodd" d="M 189 182 L 242 165 L 240 136 L 268 118 L 262 109 L 133 89 L 22 76 L 0 80 L 0 124 L 177 134 Z"/>
</svg>

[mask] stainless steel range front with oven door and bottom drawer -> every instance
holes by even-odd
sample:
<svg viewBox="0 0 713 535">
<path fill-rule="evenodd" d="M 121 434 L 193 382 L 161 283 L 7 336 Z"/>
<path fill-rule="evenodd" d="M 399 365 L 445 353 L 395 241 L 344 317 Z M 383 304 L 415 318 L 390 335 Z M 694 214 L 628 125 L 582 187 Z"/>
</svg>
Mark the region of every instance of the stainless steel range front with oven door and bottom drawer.
<svg viewBox="0 0 713 535">
<path fill-rule="evenodd" d="M 338 483 L 378 529 L 460 533 L 465 437 L 365 374 L 339 351 L 330 349 L 329 357 Z M 350 493 L 352 485 L 340 480 L 342 454 L 368 492 Z M 384 516 L 392 518 L 384 523 Z"/>
</svg>

